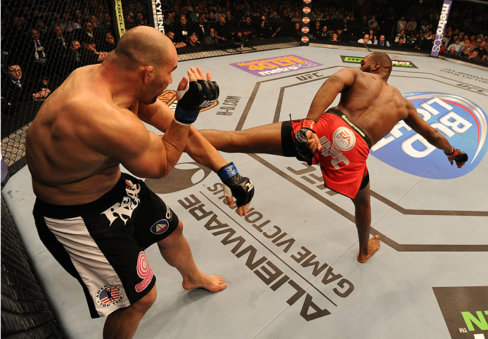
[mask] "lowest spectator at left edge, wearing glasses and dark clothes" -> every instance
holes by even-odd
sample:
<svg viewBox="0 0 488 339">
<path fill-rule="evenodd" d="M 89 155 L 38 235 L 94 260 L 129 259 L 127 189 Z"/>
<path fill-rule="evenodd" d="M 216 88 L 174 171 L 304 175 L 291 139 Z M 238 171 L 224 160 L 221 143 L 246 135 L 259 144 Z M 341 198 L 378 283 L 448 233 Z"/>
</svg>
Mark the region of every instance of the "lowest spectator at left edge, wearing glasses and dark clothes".
<svg viewBox="0 0 488 339">
<path fill-rule="evenodd" d="M 1 72 L 1 97 L 5 104 L 15 107 L 19 101 L 44 100 L 51 91 L 48 88 L 39 89 L 36 83 L 23 81 L 20 65 L 12 63 Z"/>
</svg>

